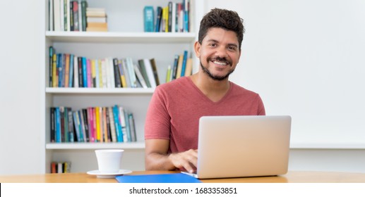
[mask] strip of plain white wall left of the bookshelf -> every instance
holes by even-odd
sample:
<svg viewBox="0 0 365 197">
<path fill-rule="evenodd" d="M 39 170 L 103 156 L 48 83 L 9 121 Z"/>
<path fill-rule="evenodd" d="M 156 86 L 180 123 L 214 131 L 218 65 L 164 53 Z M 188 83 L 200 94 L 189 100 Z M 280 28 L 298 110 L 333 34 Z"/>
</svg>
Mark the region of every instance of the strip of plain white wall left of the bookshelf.
<svg viewBox="0 0 365 197">
<path fill-rule="evenodd" d="M 0 1 L 0 174 L 42 172 L 41 1 Z"/>
</svg>

